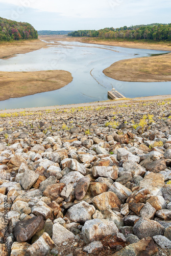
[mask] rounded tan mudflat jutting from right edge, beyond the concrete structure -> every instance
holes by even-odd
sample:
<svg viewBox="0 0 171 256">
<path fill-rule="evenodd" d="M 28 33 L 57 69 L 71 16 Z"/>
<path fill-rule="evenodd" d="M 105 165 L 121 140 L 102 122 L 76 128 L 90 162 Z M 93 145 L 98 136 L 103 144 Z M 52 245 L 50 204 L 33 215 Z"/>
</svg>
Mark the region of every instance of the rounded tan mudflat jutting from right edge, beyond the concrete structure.
<svg viewBox="0 0 171 256">
<path fill-rule="evenodd" d="M 171 53 L 120 60 L 103 73 L 113 79 L 128 82 L 171 81 Z"/>
</svg>

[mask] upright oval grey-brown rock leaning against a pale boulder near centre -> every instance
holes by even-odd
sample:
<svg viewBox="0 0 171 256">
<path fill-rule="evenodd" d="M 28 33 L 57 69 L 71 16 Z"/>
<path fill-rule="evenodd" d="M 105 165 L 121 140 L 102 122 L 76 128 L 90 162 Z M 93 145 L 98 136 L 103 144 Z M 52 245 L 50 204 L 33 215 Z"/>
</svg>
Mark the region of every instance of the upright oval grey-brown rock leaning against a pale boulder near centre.
<svg viewBox="0 0 171 256">
<path fill-rule="evenodd" d="M 89 177 L 83 177 L 78 181 L 74 190 L 74 194 L 77 200 L 82 200 L 85 197 L 89 184 L 90 184 Z"/>
</svg>

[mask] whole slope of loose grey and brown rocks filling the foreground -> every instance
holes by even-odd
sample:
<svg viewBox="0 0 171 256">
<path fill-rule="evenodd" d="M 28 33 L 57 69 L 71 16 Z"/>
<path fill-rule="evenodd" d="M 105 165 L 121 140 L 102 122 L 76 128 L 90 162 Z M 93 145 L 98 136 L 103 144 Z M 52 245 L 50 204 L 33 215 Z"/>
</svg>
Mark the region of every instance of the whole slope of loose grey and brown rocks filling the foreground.
<svg viewBox="0 0 171 256">
<path fill-rule="evenodd" d="M 1 114 L 0 255 L 170 255 L 170 109 Z"/>
</svg>

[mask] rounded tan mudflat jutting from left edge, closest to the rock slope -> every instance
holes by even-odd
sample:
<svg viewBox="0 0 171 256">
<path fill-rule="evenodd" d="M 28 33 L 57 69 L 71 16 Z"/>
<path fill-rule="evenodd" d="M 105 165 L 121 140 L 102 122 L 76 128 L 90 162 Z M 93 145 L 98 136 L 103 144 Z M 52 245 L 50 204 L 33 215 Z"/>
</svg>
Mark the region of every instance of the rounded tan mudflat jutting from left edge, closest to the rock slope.
<svg viewBox="0 0 171 256">
<path fill-rule="evenodd" d="M 68 71 L 0 72 L 0 100 L 54 91 L 72 81 Z"/>
</svg>

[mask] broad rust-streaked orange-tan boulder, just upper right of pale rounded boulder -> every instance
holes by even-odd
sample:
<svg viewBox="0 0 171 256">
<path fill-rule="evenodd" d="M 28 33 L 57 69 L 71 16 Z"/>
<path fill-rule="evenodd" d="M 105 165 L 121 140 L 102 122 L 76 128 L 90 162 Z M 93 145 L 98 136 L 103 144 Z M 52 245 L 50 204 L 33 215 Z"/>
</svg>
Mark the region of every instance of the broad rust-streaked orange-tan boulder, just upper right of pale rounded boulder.
<svg viewBox="0 0 171 256">
<path fill-rule="evenodd" d="M 109 191 L 92 199 L 92 203 L 98 210 L 120 208 L 120 201 L 115 193 Z"/>
</svg>

